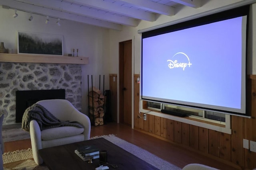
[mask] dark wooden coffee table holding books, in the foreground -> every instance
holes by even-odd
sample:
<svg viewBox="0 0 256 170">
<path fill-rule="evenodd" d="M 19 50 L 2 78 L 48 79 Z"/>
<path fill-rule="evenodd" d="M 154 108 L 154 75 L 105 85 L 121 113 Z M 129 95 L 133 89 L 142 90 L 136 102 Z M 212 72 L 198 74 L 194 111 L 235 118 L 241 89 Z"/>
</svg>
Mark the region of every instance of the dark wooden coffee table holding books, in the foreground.
<svg viewBox="0 0 256 170">
<path fill-rule="evenodd" d="M 95 168 L 99 167 L 100 164 L 102 164 L 98 161 L 99 159 L 92 160 L 92 163 L 88 163 L 88 161 L 83 161 L 74 153 L 74 150 L 76 150 L 81 145 L 95 145 L 100 150 L 107 150 L 108 163 L 116 164 L 118 166 L 118 168 L 113 168 L 112 166 L 103 163 L 103 165 L 108 166 L 109 169 L 158 169 L 104 138 L 40 149 L 39 154 L 50 170 L 94 170 Z"/>
</svg>

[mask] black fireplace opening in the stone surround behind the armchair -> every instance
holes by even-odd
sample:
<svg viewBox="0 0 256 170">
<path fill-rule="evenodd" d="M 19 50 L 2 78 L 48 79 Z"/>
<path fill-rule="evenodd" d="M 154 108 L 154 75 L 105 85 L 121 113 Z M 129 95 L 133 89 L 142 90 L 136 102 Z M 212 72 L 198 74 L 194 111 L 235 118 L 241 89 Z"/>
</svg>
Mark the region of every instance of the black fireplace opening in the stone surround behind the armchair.
<svg viewBox="0 0 256 170">
<path fill-rule="evenodd" d="M 16 123 L 22 122 L 22 116 L 28 107 L 48 99 L 65 99 L 65 89 L 16 91 Z"/>
</svg>

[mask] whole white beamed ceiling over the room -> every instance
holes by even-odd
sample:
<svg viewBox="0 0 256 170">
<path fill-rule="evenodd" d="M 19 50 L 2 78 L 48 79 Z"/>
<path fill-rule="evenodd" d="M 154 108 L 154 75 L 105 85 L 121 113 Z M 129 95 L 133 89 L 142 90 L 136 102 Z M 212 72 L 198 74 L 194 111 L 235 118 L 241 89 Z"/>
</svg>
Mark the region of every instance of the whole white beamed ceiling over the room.
<svg viewBox="0 0 256 170">
<path fill-rule="evenodd" d="M 199 8 L 202 0 L 0 0 L 5 9 L 72 20 L 109 29 L 154 22 L 159 15 L 174 16 L 177 6 Z"/>
</svg>

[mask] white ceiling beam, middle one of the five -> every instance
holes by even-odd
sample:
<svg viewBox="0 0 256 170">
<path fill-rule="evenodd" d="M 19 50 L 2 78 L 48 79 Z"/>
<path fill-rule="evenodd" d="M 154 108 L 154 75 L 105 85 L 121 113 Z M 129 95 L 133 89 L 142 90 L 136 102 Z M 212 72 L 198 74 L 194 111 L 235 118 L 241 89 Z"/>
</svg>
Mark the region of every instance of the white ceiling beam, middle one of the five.
<svg viewBox="0 0 256 170">
<path fill-rule="evenodd" d="M 73 2 L 76 4 L 81 4 L 84 6 L 89 6 L 92 8 L 97 8 L 100 10 L 110 11 L 116 14 L 129 16 L 132 18 L 140 19 L 140 20 L 151 21 L 151 22 L 156 21 L 155 14 L 151 14 L 151 13 L 140 11 L 140 10 L 130 9 L 125 6 L 119 6 L 115 3 L 110 3 L 103 0 L 86 0 L 86 1 L 85 0 L 66 0 L 66 1 Z"/>
</svg>

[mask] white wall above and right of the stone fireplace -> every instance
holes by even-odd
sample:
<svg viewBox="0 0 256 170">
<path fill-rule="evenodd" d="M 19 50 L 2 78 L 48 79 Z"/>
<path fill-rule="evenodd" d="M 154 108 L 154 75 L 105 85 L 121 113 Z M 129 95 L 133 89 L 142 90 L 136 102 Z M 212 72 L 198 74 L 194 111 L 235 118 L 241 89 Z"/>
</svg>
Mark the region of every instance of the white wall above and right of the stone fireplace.
<svg viewBox="0 0 256 170">
<path fill-rule="evenodd" d="M 49 33 L 63 35 L 65 56 L 72 53 L 72 49 L 75 48 L 79 49 L 80 57 L 89 57 L 89 64 L 82 65 L 82 112 L 87 113 L 87 75 L 93 75 L 93 84 L 98 88 L 98 77 L 100 74 L 105 74 L 105 90 L 109 89 L 108 29 L 68 20 L 60 20 L 61 26 L 58 26 L 57 20 L 53 18 L 50 18 L 49 23 L 45 24 L 45 16 L 32 14 L 34 18 L 29 21 L 29 13 L 21 11 L 17 11 L 17 13 L 18 17 L 13 18 L 14 10 L 0 7 L 0 42 L 4 42 L 6 49 L 14 49 L 14 53 L 17 53 L 18 31 Z M 103 85 L 103 82 L 101 83 Z"/>
</svg>

